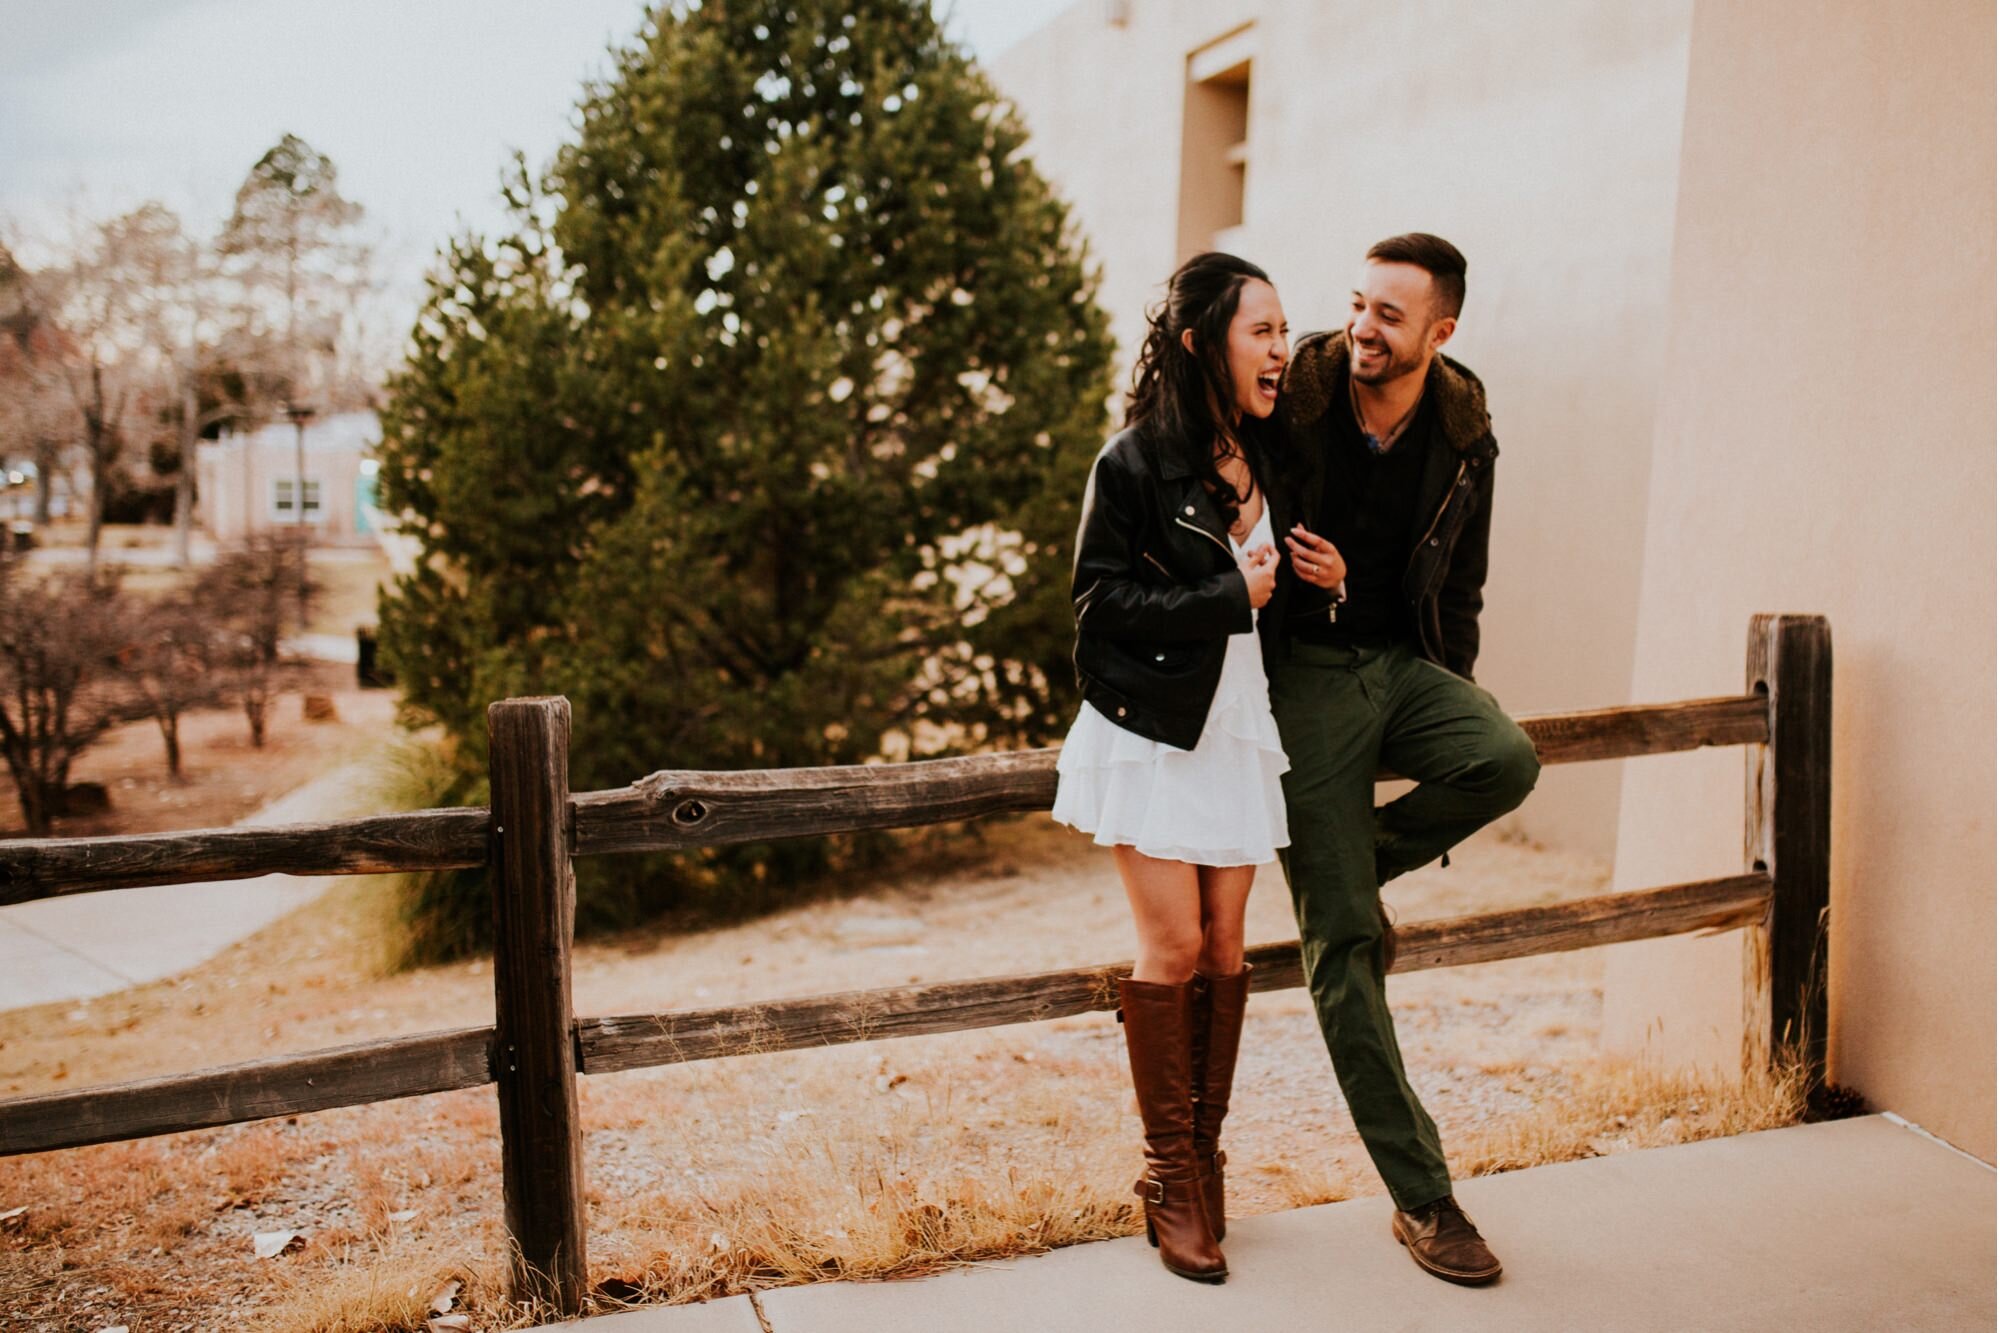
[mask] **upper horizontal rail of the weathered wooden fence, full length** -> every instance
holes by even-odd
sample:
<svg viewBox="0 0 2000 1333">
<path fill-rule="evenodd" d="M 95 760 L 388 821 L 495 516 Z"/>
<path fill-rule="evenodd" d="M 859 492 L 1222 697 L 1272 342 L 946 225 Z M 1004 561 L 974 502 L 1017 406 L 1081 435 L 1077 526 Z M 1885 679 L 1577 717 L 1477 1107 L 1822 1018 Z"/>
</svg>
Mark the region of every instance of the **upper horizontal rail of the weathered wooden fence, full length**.
<svg viewBox="0 0 2000 1333">
<path fill-rule="evenodd" d="M 1670 755 L 1766 739 L 1760 695 L 1542 713 L 1520 719 L 1544 765 Z M 1394 779 L 1394 773 L 1382 773 Z M 908 829 L 1056 799 L 1056 751 L 1014 751 L 904 765 L 666 771 L 614 791 L 578 793 L 574 855 L 688 851 L 730 843 Z M 68 893 L 258 875 L 376 875 L 484 865 L 484 807 L 372 815 L 270 829 L 0 841 L 0 907 Z"/>
</svg>

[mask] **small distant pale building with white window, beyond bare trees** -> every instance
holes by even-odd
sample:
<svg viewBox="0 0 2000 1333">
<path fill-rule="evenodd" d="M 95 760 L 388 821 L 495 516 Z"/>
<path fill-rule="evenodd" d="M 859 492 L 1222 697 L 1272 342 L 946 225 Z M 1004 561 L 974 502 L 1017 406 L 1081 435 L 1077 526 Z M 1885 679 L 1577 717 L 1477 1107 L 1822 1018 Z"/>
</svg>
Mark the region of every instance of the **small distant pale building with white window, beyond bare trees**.
<svg viewBox="0 0 2000 1333">
<path fill-rule="evenodd" d="M 340 412 L 306 422 L 304 476 L 298 432 L 276 420 L 244 434 L 204 440 L 196 450 L 196 518 L 218 542 L 300 522 L 316 542 L 372 544 L 376 510 L 374 412 Z"/>
</svg>

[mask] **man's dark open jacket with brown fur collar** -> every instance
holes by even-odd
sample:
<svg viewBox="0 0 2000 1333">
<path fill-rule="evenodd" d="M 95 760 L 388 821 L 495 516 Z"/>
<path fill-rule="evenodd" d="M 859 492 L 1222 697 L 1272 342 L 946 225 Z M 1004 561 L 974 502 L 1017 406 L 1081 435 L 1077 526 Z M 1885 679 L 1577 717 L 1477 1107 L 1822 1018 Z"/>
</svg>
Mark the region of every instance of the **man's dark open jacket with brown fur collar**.
<svg viewBox="0 0 2000 1333">
<path fill-rule="evenodd" d="M 1492 524 L 1494 442 L 1486 414 L 1486 388 L 1450 356 L 1430 362 L 1424 396 L 1432 404 L 1426 438 L 1408 438 L 1424 450 L 1424 478 L 1410 522 L 1410 562 L 1402 594 L 1414 610 L 1424 656 L 1464 679 L 1480 654 L 1480 608 L 1486 586 L 1486 536 Z M 1286 506 L 1314 522 L 1326 484 L 1326 448 L 1332 442 L 1328 412 L 1348 410 L 1348 334 L 1308 334 L 1292 350 L 1284 372 L 1278 416 L 1294 464 L 1294 496 Z M 1318 588 L 1302 584 L 1286 560 L 1278 574 L 1272 610 L 1262 616 L 1264 654 L 1284 652 L 1286 624 L 1298 616 L 1326 614 Z"/>
</svg>

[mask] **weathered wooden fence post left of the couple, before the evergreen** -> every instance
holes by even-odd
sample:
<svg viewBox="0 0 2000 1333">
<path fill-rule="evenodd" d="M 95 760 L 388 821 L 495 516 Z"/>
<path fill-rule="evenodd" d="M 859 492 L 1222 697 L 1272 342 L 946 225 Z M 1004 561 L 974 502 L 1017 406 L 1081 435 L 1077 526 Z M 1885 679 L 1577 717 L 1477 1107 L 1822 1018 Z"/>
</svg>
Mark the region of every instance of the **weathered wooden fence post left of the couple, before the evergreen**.
<svg viewBox="0 0 2000 1333">
<path fill-rule="evenodd" d="M 584 1151 L 570 1011 L 570 701 L 486 709 L 492 775 L 494 1051 L 512 1293 L 582 1307 Z"/>
</svg>

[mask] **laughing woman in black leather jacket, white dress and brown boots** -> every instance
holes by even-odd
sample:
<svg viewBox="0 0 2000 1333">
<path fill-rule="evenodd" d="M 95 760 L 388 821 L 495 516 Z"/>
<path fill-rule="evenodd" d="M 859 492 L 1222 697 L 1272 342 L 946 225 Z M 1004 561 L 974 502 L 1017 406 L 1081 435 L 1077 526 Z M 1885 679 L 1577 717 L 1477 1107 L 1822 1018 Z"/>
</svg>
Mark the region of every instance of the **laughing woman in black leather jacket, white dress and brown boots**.
<svg viewBox="0 0 2000 1333">
<path fill-rule="evenodd" d="M 1058 821 L 1112 847 L 1138 927 L 1118 997 L 1146 1131 L 1146 1237 L 1222 1281 L 1222 1151 L 1250 969 L 1244 903 L 1286 845 L 1286 771 L 1256 612 L 1278 578 L 1264 424 L 1288 356 L 1262 268 L 1198 254 L 1168 282 L 1126 428 L 1076 534 L 1076 673 Z M 1344 570 L 1326 570 L 1328 584 Z"/>
</svg>

